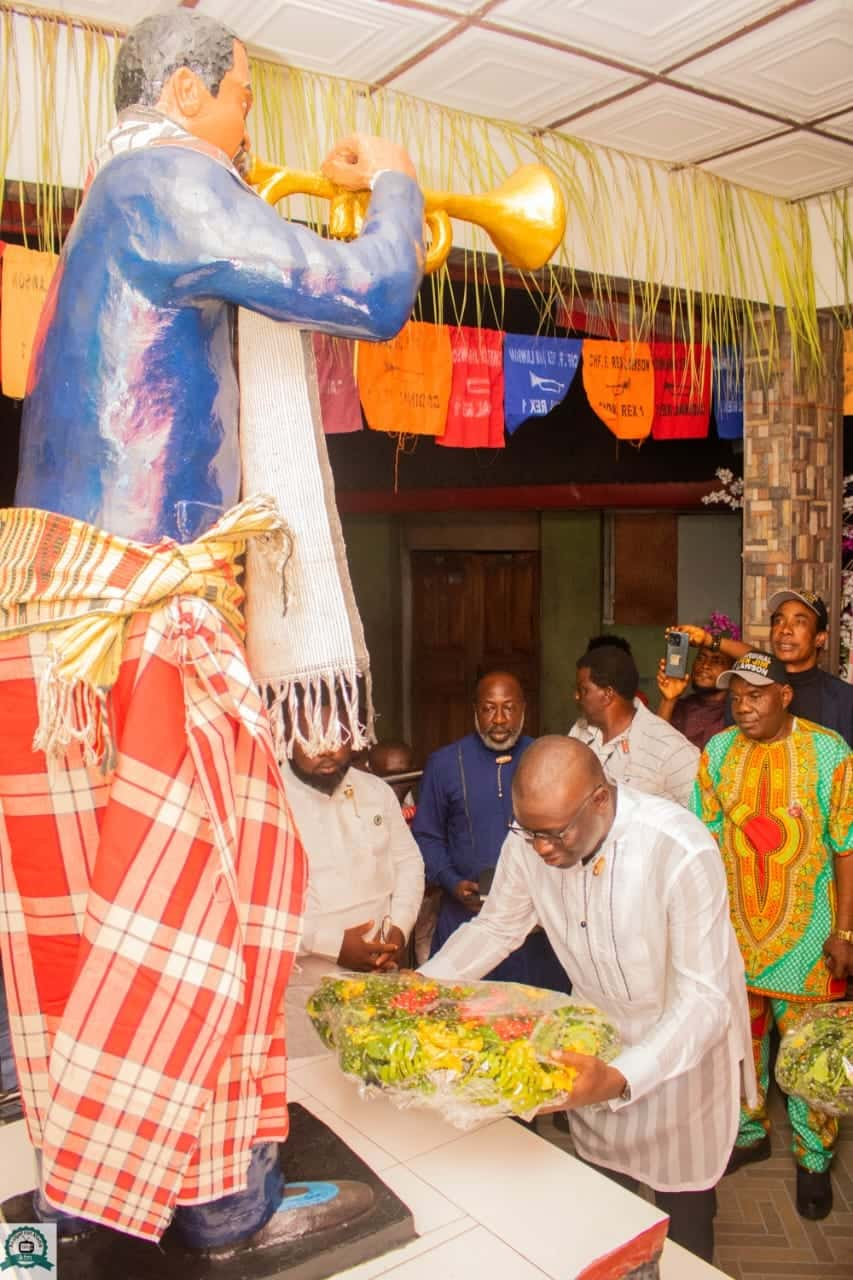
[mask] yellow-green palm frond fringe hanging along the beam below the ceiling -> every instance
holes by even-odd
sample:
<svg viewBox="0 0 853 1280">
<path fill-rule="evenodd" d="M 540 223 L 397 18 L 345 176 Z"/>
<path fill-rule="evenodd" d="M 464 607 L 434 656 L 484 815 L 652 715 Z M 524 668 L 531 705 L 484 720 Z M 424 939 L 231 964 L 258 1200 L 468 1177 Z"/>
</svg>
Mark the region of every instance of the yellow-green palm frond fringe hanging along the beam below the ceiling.
<svg viewBox="0 0 853 1280">
<path fill-rule="evenodd" d="M 22 129 L 27 24 L 38 93 L 37 238 L 40 248 L 50 250 L 60 234 L 63 122 L 79 114 L 83 172 L 111 123 L 111 79 L 122 29 L 0 0 L 0 198 L 9 198 L 4 188 L 9 156 Z M 519 164 L 539 160 L 549 165 L 564 189 L 569 229 L 548 266 L 520 276 L 537 307 L 540 332 L 555 330 L 561 305 L 571 307 L 583 297 L 589 306 L 590 294 L 602 319 L 615 316 L 617 305 L 626 306 L 635 340 L 648 340 L 656 314 L 671 310 L 676 335 L 685 342 L 743 346 L 745 334 L 757 343 L 757 316 L 770 311 L 770 329 L 762 324 L 760 344 L 768 372 L 779 355 L 776 315 L 783 312 L 795 364 L 821 367 L 804 202 L 777 200 L 690 166 L 667 169 L 565 133 L 453 111 L 391 88 L 260 58 L 251 65 L 255 142 L 259 154 L 275 164 L 316 170 L 333 142 L 359 128 L 405 143 L 419 177 L 432 188 L 485 193 Z M 300 201 L 298 216 L 321 229 L 328 215 L 324 202 Z M 282 204 L 284 212 L 287 204 Z M 849 191 L 820 200 L 835 273 L 844 287 L 835 310 L 848 324 L 853 311 L 849 212 Z M 459 323 L 473 301 L 478 324 L 500 326 L 503 264 L 480 229 L 469 228 L 465 244 L 462 279 L 456 279 L 455 288 L 448 288 L 447 270 L 429 283 L 434 317 Z M 584 269 L 578 264 L 585 264 Z"/>
</svg>

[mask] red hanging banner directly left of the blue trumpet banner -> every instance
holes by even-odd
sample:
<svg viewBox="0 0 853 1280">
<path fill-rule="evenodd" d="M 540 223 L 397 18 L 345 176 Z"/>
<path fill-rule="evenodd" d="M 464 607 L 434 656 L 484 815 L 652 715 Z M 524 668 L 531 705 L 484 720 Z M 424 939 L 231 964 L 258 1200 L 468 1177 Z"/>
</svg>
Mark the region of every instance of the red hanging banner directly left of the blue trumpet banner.
<svg viewBox="0 0 853 1280">
<path fill-rule="evenodd" d="M 502 449 L 503 334 L 460 325 L 450 332 L 453 380 L 444 434 L 455 449 Z"/>
</svg>

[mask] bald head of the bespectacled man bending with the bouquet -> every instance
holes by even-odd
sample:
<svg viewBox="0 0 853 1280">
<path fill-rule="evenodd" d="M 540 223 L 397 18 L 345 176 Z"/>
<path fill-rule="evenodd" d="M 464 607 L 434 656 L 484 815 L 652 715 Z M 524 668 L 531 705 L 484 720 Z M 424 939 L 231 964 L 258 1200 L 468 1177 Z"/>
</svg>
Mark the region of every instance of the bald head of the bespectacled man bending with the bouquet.
<svg viewBox="0 0 853 1280">
<path fill-rule="evenodd" d="M 512 780 L 512 808 L 539 858 L 567 868 L 603 844 L 616 814 L 616 791 L 584 742 L 552 735 L 524 753 Z"/>
</svg>

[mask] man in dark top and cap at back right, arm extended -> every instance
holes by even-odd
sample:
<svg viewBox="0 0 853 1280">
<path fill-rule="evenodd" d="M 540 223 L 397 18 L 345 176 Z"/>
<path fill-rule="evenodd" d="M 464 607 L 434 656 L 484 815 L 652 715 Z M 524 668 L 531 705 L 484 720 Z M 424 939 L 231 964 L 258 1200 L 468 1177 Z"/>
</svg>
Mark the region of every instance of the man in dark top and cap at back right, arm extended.
<svg viewBox="0 0 853 1280">
<path fill-rule="evenodd" d="M 692 645 L 706 645 L 730 658 L 743 657 L 749 648 L 730 636 L 715 637 L 703 627 L 680 625 L 672 630 L 686 631 Z M 817 666 L 827 630 L 826 604 L 813 591 L 785 588 L 770 596 L 770 648 L 785 667 L 792 713 L 835 730 L 853 746 L 853 685 Z"/>
</svg>

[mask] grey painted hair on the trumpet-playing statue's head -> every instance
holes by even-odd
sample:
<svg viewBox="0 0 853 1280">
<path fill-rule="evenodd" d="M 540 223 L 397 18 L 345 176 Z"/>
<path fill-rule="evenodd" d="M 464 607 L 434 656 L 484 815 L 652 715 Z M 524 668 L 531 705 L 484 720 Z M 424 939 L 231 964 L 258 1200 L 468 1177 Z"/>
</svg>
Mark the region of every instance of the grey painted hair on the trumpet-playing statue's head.
<svg viewBox="0 0 853 1280">
<path fill-rule="evenodd" d="M 152 14 L 128 31 L 115 63 L 115 110 L 156 106 L 163 87 L 188 67 L 214 95 L 234 64 L 240 37 L 222 22 L 191 9 Z"/>
</svg>

